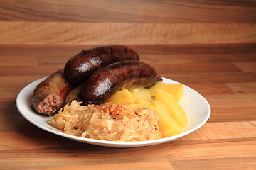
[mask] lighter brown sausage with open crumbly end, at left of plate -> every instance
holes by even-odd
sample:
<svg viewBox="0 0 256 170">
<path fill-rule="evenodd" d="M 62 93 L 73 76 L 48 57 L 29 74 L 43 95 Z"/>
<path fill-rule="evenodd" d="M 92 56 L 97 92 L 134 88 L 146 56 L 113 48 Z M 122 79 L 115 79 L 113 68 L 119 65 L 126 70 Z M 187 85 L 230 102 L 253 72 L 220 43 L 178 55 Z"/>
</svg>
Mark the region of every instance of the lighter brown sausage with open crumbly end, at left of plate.
<svg viewBox="0 0 256 170">
<path fill-rule="evenodd" d="M 33 107 L 43 115 L 53 115 L 62 106 L 65 96 L 73 89 L 73 85 L 65 79 L 63 69 L 51 74 L 33 91 Z"/>
</svg>

